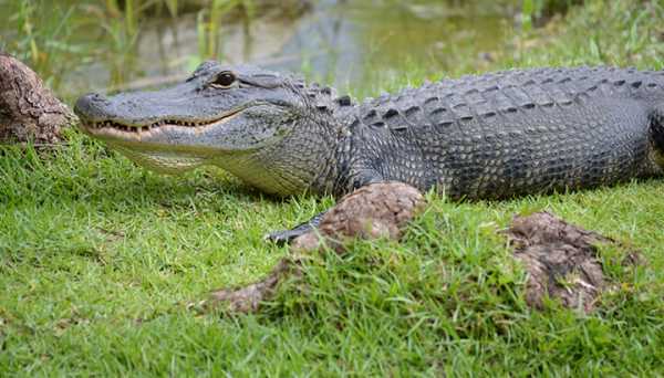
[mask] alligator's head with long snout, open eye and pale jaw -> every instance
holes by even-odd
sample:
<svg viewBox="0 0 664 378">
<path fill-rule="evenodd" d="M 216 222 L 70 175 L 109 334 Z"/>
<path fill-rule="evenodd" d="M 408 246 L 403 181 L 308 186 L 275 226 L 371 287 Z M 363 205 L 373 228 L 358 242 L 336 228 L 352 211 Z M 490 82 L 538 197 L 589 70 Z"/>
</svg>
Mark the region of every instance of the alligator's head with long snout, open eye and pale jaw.
<svg viewBox="0 0 664 378">
<path fill-rule="evenodd" d="M 208 61 L 173 87 L 87 94 L 74 112 L 86 134 L 147 168 L 179 172 L 212 164 L 288 195 L 310 187 L 334 150 L 332 104 L 329 91 L 290 75 Z"/>
</svg>

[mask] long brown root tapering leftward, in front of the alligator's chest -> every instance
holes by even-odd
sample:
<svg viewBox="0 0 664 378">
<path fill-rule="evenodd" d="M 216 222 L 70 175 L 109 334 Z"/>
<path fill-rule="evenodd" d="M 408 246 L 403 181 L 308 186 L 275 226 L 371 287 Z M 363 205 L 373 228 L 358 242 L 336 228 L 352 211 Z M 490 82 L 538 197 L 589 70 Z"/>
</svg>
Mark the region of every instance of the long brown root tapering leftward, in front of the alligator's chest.
<svg viewBox="0 0 664 378">
<path fill-rule="evenodd" d="M 298 255 L 318 251 L 323 244 L 343 253 L 344 242 L 353 238 L 400 239 L 423 206 L 422 193 L 402 182 L 360 188 L 322 214 L 318 230 L 297 237 L 290 246 L 292 255 L 282 259 L 267 277 L 243 287 L 216 291 L 204 307 L 226 303 L 230 312 L 255 312 L 272 297 L 281 282 L 301 274 Z"/>
</svg>

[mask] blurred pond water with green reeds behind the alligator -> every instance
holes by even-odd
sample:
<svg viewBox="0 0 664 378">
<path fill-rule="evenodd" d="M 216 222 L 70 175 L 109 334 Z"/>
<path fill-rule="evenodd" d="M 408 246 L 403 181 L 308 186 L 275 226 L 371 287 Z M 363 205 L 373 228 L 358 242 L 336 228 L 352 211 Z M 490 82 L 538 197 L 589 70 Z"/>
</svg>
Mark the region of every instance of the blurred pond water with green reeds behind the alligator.
<svg viewBox="0 0 664 378">
<path fill-rule="evenodd" d="M 579 2 L 0 0 L 0 49 L 66 101 L 167 84 L 206 59 L 302 71 L 365 94 L 413 65 L 484 70 Z"/>
</svg>

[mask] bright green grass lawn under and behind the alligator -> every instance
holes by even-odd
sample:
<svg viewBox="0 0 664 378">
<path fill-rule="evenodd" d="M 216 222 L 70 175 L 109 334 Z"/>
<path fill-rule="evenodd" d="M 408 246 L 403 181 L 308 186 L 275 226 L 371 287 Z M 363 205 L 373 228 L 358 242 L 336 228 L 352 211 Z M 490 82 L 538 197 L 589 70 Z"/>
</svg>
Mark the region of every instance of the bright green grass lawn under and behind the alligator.
<svg viewBox="0 0 664 378">
<path fill-rule="evenodd" d="M 506 46 L 487 70 L 664 69 L 657 1 L 587 1 Z M 471 62 L 446 75 L 471 71 Z M 417 84 L 417 66 L 384 87 Z M 0 376 L 664 375 L 664 180 L 499 202 L 430 206 L 400 243 L 356 242 L 305 264 L 257 315 L 187 303 L 251 282 L 287 253 L 267 231 L 331 198 L 263 197 L 216 169 L 159 176 L 80 133 L 0 150 Z M 549 210 L 649 260 L 591 315 L 530 309 L 502 237 Z"/>
</svg>

